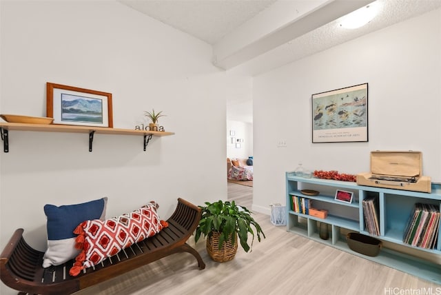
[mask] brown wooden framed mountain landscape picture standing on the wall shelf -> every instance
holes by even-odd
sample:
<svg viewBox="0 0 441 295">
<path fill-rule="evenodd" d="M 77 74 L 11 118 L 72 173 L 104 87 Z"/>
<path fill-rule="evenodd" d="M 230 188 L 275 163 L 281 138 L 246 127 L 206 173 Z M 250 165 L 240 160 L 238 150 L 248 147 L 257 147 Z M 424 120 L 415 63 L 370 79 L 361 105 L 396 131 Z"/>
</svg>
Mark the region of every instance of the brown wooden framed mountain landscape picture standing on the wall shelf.
<svg viewBox="0 0 441 295">
<path fill-rule="evenodd" d="M 54 124 L 113 128 L 112 94 L 47 82 L 46 116 Z"/>
</svg>

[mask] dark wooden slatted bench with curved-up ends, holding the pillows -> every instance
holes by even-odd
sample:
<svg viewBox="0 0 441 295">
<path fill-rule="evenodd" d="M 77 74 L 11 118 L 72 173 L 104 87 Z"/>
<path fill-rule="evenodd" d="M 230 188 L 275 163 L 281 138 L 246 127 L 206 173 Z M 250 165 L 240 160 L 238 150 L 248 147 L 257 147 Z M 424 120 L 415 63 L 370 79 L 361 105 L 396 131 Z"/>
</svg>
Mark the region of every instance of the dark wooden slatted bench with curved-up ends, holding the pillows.
<svg viewBox="0 0 441 295">
<path fill-rule="evenodd" d="M 23 229 L 16 230 L 1 253 L 1 281 L 19 294 L 72 294 L 97 283 L 119 276 L 132 269 L 178 252 L 188 252 L 205 268 L 201 255 L 186 242 L 201 219 L 201 209 L 178 199 L 176 210 L 167 220 L 169 226 L 155 236 L 136 243 L 95 267 L 70 276 L 74 261 L 43 268 L 43 254 L 32 249 L 23 238 Z"/>
</svg>

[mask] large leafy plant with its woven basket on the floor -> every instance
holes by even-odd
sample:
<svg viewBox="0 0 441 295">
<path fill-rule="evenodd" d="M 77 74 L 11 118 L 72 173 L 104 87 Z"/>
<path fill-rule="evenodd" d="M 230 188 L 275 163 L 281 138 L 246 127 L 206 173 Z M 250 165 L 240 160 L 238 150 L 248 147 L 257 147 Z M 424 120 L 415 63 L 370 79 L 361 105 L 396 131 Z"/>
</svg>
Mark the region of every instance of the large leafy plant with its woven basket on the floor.
<svg viewBox="0 0 441 295">
<path fill-rule="evenodd" d="M 201 235 L 207 237 L 207 252 L 214 261 L 232 260 L 237 252 L 238 240 L 243 250 L 248 252 L 252 250 L 254 236 L 259 242 L 260 235 L 265 238 L 262 228 L 251 216 L 252 212 L 234 201 L 205 202 L 205 206 L 199 207 L 202 215 L 194 240 L 197 242 Z M 248 234 L 252 235 L 251 246 Z"/>
</svg>

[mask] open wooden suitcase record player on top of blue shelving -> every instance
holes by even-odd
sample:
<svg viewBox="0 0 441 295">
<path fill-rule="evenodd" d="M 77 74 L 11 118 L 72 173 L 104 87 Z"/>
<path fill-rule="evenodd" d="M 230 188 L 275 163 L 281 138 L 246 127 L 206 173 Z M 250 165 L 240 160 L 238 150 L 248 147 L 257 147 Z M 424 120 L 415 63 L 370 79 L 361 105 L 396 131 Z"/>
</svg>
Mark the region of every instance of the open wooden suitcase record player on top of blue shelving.
<svg viewBox="0 0 441 295">
<path fill-rule="evenodd" d="M 371 152 L 371 172 L 357 174 L 357 184 L 431 192 L 431 178 L 422 176 L 422 153 L 413 151 Z"/>
</svg>

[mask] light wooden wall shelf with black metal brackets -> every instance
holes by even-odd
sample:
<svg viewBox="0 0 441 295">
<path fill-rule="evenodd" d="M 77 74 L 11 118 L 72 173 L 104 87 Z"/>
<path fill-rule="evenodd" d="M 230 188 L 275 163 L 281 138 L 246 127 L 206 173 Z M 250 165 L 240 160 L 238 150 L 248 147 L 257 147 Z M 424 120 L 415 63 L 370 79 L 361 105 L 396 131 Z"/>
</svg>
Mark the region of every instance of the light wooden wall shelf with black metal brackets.
<svg viewBox="0 0 441 295">
<path fill-rule="evenodd" d="M 144 137 L 144 150 L 147 148 L 152 136 L 168 136 L 174 132 L 130 130 L 119 128 L 76 126 L 76 125 L 41 125 L 24 123 L 0 123 L 1 139 L 3 140 L 3 152 L 9 152 L 9 131 L 34 131 L 34 132 L 70 132 L 89 134 L 89 152 L 92 152 L 92 142 L 94 134 L 116 134 L 116 135 L 138 135 Z"/>
</svg>

